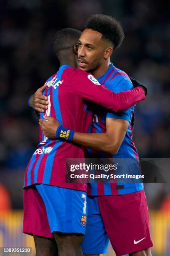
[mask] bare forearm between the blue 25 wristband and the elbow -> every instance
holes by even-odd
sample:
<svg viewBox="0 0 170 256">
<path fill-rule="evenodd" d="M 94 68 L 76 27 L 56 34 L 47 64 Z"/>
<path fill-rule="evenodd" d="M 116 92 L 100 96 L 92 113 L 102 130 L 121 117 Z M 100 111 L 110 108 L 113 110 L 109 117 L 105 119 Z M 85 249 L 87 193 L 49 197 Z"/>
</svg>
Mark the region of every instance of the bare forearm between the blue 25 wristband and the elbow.
<svg viewBox="0 0 170 256">
<path fill-rule="evenodd" d="M 110 154 L 116 154 L 118 150 L 117 145 L 110 141 L 107 133 L 75 132 L 72 141 L 86 148 L 92 148 Z"/>
</svg>

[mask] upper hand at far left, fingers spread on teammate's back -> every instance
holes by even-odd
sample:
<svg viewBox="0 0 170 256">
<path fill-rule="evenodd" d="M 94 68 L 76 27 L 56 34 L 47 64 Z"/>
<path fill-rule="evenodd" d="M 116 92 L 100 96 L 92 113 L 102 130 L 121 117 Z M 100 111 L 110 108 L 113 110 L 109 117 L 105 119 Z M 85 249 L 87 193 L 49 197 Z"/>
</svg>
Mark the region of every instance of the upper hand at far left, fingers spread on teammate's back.
<svg viewBox="0 0 170 256">
<path fill-rule="evenodd" d="M 44 110 L 48 108 L 47 97 L 45 95 L 42 95 L 43 90 L 45 90 L 46 88 L 47 85 L 43 85 L 30 98 L 30 107 L 32 107 L 35 111 L 43 113 Z"/>
</svg>

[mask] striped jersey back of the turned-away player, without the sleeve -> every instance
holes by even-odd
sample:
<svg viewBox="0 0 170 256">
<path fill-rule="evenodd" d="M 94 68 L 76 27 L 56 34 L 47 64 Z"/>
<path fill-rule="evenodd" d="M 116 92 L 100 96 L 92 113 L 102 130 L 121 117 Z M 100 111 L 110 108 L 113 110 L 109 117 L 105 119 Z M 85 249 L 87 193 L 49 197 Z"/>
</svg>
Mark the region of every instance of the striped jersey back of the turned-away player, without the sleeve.
<svg viewBox="0 0 170 256">
<path fill-rule="evenodd" d="M 86 111 L 85 101 L 75 92 L 72 79 L 82 74 L 79 69 L 63 65 L 47 81 L 43 95 L 48 98 L 45 115 L 56 118 L 70 130 L 87 133 L 92 113 Z M 40 113 L 43 118 L 44 113 Z M 66 141 L 45 137 L 40 128 L 40 143 L 30 159 L 25 175 L 25 187 L 35 183 L 86 190 L 85 184 L 65 183 L 65 159 L 84 158 L 84 148 Z"/>
</svg>

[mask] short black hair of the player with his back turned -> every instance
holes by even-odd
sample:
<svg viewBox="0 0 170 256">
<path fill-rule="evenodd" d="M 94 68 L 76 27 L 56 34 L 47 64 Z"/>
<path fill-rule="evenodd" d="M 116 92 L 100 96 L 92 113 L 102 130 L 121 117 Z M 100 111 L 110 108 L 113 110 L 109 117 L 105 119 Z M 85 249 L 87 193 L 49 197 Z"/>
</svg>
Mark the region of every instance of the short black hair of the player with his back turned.
<svg viewBox="0 0 170 256">
<path fill-rule="evenodd" d="M 55 33 L 53 49 L 55 54 L 61 50 L 73 47 L 81 36 L 81 31 L 73 28 L 64 28 Z"/>
</svg>

